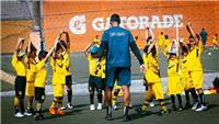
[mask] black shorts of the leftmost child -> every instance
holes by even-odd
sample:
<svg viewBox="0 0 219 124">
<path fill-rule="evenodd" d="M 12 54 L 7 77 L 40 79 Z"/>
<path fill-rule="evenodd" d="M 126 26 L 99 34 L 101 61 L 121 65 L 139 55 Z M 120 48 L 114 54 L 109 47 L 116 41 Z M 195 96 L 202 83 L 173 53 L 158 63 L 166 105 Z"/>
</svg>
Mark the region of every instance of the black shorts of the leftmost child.
<svg viewBox="0 0 219 124">
<path fill-rule="evenodd" d="M 24 99 L 25 95 L 25 89 L 26 89 L 26 77 L 23 76 L 16 76 L 15 83 L 15 95 L 21 97 L 21 99 Z"/>
</svg>

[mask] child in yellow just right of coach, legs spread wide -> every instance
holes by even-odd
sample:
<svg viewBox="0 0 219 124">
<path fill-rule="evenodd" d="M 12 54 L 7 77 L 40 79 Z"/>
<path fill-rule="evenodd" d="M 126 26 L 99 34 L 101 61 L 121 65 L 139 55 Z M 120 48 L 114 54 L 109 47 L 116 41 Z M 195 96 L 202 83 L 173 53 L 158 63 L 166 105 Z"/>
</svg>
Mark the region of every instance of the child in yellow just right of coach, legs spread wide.
<svg viewBox="0 0 219 124">
<path fill-rule="evenodd" d="M 147 38 L 148 45 L 143 48 L 143 63 L 146 66 L 145 77 L 147 80 L 148 91 L 145 93 L 145 102 L 141 108 L 136 111 L 138 113 L 146 113 L 150 105 L 151 99 L 154 97 L 159 100 L 161 105 L 161 114 L 168 114 L 169 111 L 164 103 L 163 88 L 160 79 L 160 69 L 158 64 L 158 49 L 155 46 L 153 33 L 151 29 L 148 29 L 151 33 L 151 37 Z"/>
</svg>

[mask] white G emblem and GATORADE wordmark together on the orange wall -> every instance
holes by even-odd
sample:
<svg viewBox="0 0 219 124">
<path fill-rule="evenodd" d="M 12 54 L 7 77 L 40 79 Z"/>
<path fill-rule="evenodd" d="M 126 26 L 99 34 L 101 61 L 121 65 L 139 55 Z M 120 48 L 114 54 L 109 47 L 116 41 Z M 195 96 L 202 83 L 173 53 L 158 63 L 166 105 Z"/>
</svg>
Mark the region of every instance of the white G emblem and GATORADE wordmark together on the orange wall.
<svg viewBox="0 0 219 124">
<path fill-rule="evenodd" d="M 164 15 L 140 15 L 140 16 L 120 16 L 120 26 L 130 31 L 135 30 L 146 30 L 150 26 L 151 29 L 171 29 L 171 27 L 182 27 L 183 26 L 183 15 L 182 14 L 164 14 Z M 102 32 L 107 30 L 110 25 L 108 16 L 97 16 L 92 20 L 92 22 L 87 22 L 85 15 L 76 15 L 70 20 L 69 29 L 73 34 L 84 34 L 87 33 L 87 24 L 92 26 L 95 32 Z"/>
</svg>

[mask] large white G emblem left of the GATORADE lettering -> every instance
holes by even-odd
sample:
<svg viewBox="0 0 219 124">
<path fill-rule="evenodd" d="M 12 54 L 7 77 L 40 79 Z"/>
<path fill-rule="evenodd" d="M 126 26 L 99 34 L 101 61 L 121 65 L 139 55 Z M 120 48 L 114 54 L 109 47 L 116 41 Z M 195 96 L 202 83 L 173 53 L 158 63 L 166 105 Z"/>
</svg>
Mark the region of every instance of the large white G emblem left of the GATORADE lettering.
<svg viewBox="0 0 219 124">
<path fill-rule="evenodd" d="M 69 22 L 69 29 L 73 34 L 84 34 L 85 29 L 85 15 L 76 15 Z"/>
</svg>

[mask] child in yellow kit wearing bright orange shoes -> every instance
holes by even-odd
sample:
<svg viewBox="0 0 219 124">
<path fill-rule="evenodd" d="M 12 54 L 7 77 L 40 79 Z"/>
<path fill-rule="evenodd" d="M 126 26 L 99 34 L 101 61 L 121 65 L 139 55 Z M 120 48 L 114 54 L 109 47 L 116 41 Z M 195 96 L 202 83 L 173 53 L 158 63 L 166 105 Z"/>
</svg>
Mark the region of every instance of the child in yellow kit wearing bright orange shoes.
<svg viewBox="0 0 219 124">
<path fill-rule="evenodd" d="M 56 40 L 57 42 L 58 40 Z M 49 108 L 50 114 L 65 114 L 62 106 L 62 99 L 65 95 L 64 87 L 66 83 L 66 66 L 64 61 L 64 49 L 60 43 L 57 43 L 50 59 L 50 66 L 53 68 L 53 91 L 54 101 Z M 56 105 L 58 108 L 56 108 Z"/>
</svg>

